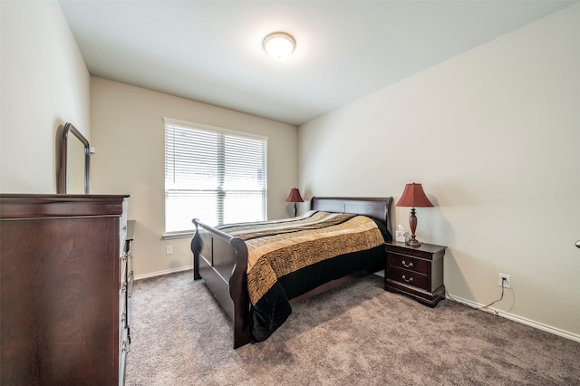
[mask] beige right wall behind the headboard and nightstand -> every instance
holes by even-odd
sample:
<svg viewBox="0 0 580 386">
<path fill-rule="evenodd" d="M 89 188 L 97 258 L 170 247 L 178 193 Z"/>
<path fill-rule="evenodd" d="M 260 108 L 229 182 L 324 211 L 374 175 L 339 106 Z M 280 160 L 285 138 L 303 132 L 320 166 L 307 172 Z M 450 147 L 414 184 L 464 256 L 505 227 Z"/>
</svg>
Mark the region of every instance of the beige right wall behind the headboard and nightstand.
<svg viewBox="0 0 580 386">
<path fill-rule="evenodd" d="M 420 239 L 449 246 L 445 285 L 580 341 L 580 5 L 299 128 L 300 188 L 401 196 Z M 396 209 L 408 226 L 409 208 Z"/>
</svg>

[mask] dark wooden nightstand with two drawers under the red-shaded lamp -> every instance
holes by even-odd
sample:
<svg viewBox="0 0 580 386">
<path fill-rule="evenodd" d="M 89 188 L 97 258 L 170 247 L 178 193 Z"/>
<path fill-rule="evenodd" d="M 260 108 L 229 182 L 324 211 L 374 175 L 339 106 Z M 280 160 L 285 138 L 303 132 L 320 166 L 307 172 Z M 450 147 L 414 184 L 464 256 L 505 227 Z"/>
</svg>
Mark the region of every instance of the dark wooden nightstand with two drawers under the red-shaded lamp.
<svg viewBox="0 0 580 386">
<path fill-rule="evenodd" d="M 445 298 L 443 255 L 447 246 L 423 244 L 419 247 L 391 241 L 387 252 L 384 289 L 408 294 L 421 304 L 435 307 Z"/>
</svg>

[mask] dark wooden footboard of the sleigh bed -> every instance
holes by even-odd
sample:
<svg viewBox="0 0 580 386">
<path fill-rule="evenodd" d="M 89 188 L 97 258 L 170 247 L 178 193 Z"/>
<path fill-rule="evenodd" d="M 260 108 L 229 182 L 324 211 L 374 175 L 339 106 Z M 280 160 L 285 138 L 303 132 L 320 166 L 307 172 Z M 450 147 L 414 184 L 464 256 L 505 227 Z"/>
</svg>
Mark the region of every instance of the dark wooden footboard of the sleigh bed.
<svg viewBox="0 0 580 386">
<path fill-rule="evenodd" d="M 236 349 L 250 342 L 246 243 L 198 219 L 193 223 L 193 277 L 204 280 L 232 320 Z"/>
</svg>

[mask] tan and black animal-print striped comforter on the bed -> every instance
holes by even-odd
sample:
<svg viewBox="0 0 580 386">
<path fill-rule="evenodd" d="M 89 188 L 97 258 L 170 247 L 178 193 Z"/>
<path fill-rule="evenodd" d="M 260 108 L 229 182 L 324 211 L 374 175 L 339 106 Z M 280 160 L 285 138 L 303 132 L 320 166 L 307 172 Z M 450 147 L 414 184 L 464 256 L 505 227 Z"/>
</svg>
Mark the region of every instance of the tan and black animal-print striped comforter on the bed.
<svg viewBox="0 0 580 386">
<path fill-rule="evenodd" d="M 320 211 L 218 229 L 242 238 L 247 244 L 247 287 L 252 304 L 275 285 L 278 277 L 324 259 L 384 243 L 381 231 L 371 218 Z"/>
</svg>

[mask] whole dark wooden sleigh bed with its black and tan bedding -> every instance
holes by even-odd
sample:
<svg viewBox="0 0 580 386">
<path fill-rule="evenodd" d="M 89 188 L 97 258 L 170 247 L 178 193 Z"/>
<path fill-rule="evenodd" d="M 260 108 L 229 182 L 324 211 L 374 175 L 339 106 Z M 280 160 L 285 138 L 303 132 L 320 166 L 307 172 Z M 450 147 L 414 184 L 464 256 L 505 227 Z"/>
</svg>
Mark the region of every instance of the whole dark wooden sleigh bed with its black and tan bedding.
<svg viewBox="0 0 580 386">
<path fill-rule="evenodd" d="M 267 291 L 263 291 L 264 294 L 260 294 L 261 297 L 258 298 L 256 298 L 256 282 L 268 280 L 265 279 L 266 275 L 256 274 L 256 272 L 264 272 L 266 268 L 268 273 L 271 271 L 269 266 L 259 270 L 256 268 L 257 266 L 262 267 L 261 262 L 265 261 L 264 259 L 256 260 L 256 250 L 260 249 L 262 246 L 260 243 L 263 240 L 258 237 L 263 236 L 260 233 L 263 232 L 261 228 L 260 230 L 257 230 L 257 227 L 248 230 L 249 223 L 210 227 L 198 219 L 194 219 L 193 223 L 196 229 L 191 241 L 194 279 L 204 280 L 231 319 L 234 348 L 266 340 L 292 312 L 291 303 L 382 270 L 384 268 L 382 243 L 391 240 L 392 234 L 391 203 L 392 198 L 312 198 L 310 211 L 299 217 L 274 221 L 275 228 L 286 229 L 287 224 L 294 221 L 306 224 L 306 227 L 316 228 L 319 227 L 319 223 L 330 218 L 336 224 L 328 229 L 332 228 L 333 232 L 337 232 L 336 235 L 348 235 L 350 231 L 343 227 L 347 227 L 346 223 L 349 224 L 348 227 L 354 223 L 355 226 L 364 228 L 364 231 L 360 231 L 360 233 L 365 235 L 357 238 L 356 243 L 359 243 L 359 239 L 363 239 L 361 243 L 367 243 L 368 246 L 372 245 L 372 247 L 361 251 L 351 250 L 349 249 L 351 245 L 356 243 L 343 241 L 341 248 L 348 246 L 348 253 L 334 253 L 333 256 L 316 260 L 314 265 L 304 267 L 300 265 L 300 269 L 290 270 L 292 271 L 290 274 L 278 277 L 277 280 L 273 279 L 275 284 L 268 287 Z M 321 219 L 322 217 L 324 220 Z M 379 243 L 376 239 L 376 231 L 371 230 L 372 226 L 368 225 L 369 221 L 379 229 L 382 242 Z M 288 235 L 272 236 L 269 234 L 269 237 L 276 238 L 278 242 L 286 243 L 286 240 L 293 237 L 295 233 L 287 231 Z M 314 232 L 325 233 L 327 230 L 318 229 Z M 248 236 L 248 233 L 252 236 Z M 372 236 L 370 236 L 371 233 Z M 256 236 L 256 234 L 260 235 Z M 268 236 L 264 239 L 267 238 Z M 337 236 L 331 238 L 339 239 Z M 324 245 L 327 244 L 324 243 Z M 291 246 L 285 247 L 291 248 L 285 249 L 285 251 L 289 251 L 288 255 L 294 256 L 300 253 L 300 251 L 295 252 Z M 264 248 L 267 249 L 267 246 Z M 308 258 L 318 258 L 314 256 L 318 256 L 320 252 L 319 249 L 314 249 L 309 253 L 312 256 Z M 324 253 L 330 254 L 331 252 L 324 251 Z M 284 257 L 284 260 L 287 260 L 287 256 Z M 257 279 L 256 275 L 259 276 Z M 259 300 L 256 301 L 256 299 Z M 263 317 L 265 314 L 266 317 Z"/>
</svg>

